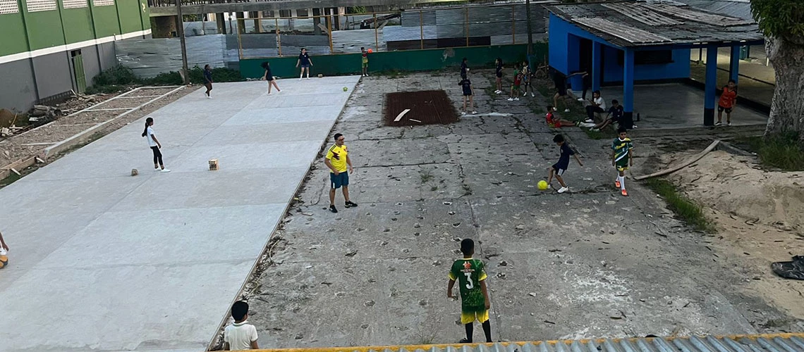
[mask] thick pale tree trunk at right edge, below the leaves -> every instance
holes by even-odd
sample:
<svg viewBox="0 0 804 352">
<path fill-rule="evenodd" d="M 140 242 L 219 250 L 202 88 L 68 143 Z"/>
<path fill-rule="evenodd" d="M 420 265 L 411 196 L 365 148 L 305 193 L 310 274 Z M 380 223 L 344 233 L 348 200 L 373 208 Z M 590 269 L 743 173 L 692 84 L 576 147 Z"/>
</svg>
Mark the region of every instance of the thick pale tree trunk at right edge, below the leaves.
<svg viewBox="0 0 804 352">
<path fill-rule="evenodd" d="M 765 51 L 776 72 L 765 137 L 795 132 L 804 145 L 804 45 L 782 38 L 765 38 Z"/>
</svg>

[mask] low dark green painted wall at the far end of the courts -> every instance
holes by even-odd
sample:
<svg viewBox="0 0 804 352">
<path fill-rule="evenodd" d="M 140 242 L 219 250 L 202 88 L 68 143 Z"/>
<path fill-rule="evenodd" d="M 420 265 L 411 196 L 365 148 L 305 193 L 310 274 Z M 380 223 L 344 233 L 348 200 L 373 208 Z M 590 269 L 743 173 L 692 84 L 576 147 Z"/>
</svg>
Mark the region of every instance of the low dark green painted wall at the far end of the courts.
<svg viewBox="0 0 804 352">
<path fill-rule="evenodd" d="M 544 58 L 547 54 L 547 43 L 534 44 L 536 58 Z M 490 67 L 495 58 L 503 59 L 503 63 L 522 62 L 525 59 L 527 45 L 502 45 L 492 47 L 456 47 L 446 49 L 428 49 L 418 51 L 384 51 L 368 55 L 370 72 L 378 71 L 432 71 L 445 67 L 461 66 L 461 59 L 469 59 L 470 67 Z M 360 54 L 317 55 L 310 59 L 313 75 L 347 75 L 360 73 Z M 240 74 L 247 78 L 259 78 L 264 71 L 260 63 L 268 61 L 271 72 L 279 77 L 292 77 L 299 74 L 295 56 L 269 59 L 240 60 Z M 510 65 L 507 65 L 511 67 Z"/>
</svg>

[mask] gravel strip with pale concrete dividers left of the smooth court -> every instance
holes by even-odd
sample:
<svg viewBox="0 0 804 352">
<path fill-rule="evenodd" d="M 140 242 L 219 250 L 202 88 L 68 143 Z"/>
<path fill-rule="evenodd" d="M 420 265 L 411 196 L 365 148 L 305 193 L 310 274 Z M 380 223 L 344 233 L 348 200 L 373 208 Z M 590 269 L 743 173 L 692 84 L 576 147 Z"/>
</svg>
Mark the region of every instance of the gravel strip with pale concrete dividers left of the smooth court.
<svg viewBox="0 0 804 352">
<path fill-rule="evenodd" d="M 162 95 L 172 91 L 173 89 L 174 88 L 149 88 L 133 93 L 135 95 L 127 96 Z M 175 92 L 172 95 L 167 95 L 164 98 L 155 101 L 154 103 L 150 103 L 145 107 L 142 107 L 142 109 L 139 111 L 134 111 L 129 115 L 125 115 L 123 118 L 109 123 L 105 128 L 104 134 L 115 131 L 117 128 L 123 127 L 127 123 L 140 119 L 143 116 L 158 110 L 160 107 L 164 107 L 167 104 L 174 102 L 176 99 L 189 94 L 195 89 L 195 87 L 187 87 L 181 91 Z M 121 102 L 125 103 L 125 107 L 136 107 L 137 105 L 140 105 L 150 99 L 154 98 L 121 99 Z M 113 103 L 117 102 L 113 101 L 105 103 L 99 108 L 113 107 Z M 55 144 L 62 140 L 66 140 L 72 136 L 75 136 L 80 131 L 84 131 L 89 127 L 96 125 L 97 123 L 114 119 L 117 115 L 120 115 L 124 112 L 125 110 L 86 111 L 76 115 L 64 116 L 52 123 L 43 125 L 42 127 L 27 131 L 18 136 L 12 136 L 10 139 L 2 140 L 0 141 L 0 165 L 10 164 L 27 156 L 39 154 L 44 150 L 44 148 L 50 146 L 47 144 Z"/>
</svg>

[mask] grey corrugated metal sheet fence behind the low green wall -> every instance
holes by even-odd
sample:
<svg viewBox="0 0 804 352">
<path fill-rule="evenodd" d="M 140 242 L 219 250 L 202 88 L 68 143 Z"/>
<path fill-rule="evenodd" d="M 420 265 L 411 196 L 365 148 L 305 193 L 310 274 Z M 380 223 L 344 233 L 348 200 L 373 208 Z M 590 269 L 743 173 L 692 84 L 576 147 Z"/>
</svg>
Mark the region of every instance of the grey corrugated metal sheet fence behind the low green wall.
<svg viewBox="0 0 804 352">
<path fill-rule="evenodd" d="M 531 3 L 535 42 L 547 40 L 548 2 Z M 446 47 L 483 47 L 527 42 L 525 5 L 504 4 L 404 10 L 398 14 L 327 15 L 308 18 L 246 18 L 248 33 L 187 37 L 189 66 L 237 69 L 240 59 Z M 200 30 L 202 22 L 196 22 Z M 186 27 L 187 24 L 185 25 Z M 191 25 L 189 27 L 192 27 Z M 331 34 L 331 35 L 330 35 Z M 178 38 L 131 38 L 115 42 L 117 61 L 143 78 L 182 67 Z"/>
</svg>

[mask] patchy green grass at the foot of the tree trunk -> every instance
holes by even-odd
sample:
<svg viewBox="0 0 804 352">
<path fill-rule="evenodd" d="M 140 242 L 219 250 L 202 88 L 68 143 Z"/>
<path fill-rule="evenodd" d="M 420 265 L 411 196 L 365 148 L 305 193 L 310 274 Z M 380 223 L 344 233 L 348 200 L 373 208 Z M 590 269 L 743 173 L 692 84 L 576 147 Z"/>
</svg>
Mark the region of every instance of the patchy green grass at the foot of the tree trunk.
<svg viewBox="0 0 804 352">
<path fill-rule="evenodd" d="M 740 147 L 757 153 L 763 166 L 784 171 L 804 171 L 804 149 L 798 144 L 798 134 L 790 133 L 773 138 L 749 137 L 737 142 Z"/>
</svg>

